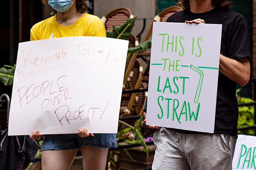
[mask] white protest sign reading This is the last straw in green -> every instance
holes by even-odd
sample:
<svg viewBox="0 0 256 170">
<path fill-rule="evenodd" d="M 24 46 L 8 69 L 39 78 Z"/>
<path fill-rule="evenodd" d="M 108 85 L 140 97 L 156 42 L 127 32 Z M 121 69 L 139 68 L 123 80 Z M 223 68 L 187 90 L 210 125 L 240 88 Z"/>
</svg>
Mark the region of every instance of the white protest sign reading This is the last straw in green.
<svg viewBox="0 0 256 170">
<path fill-rule="evenodd" d="M 214 132 L 221 31 L 154 23 L 146 124 Z"/>
</svg>

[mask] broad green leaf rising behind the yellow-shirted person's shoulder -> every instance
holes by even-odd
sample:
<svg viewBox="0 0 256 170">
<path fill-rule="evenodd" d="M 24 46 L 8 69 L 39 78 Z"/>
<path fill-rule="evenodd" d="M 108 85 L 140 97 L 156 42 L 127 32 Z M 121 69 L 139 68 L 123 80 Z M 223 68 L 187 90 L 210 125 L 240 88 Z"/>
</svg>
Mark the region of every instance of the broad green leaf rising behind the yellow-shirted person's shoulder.
<svg viewBox="0 0 256 170">
<path fill-rule="evenodd" d="M 138 15 L 135 15 L 133 18 L 127 18 L 125 23 L 120 26 L 113 26 L 112 31 L 107 31 L 107 37 L 127 40 L 131 37 L 131 29 L 133 28 L 137 16 Z"/>
</svg>

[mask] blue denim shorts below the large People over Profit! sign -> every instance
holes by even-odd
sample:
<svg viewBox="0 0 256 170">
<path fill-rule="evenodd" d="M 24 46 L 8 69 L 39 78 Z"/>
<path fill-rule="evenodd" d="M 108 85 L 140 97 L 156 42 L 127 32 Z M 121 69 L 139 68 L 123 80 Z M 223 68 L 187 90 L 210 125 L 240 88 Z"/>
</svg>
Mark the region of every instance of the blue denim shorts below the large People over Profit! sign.
<svg viewBox="0 0 256 170">
<path fill-rule="evenodd" d="M 78 134 L 46 134 L 41 150 L 80 150 L 85 146 L 117 147 L 116 134 L 94 134 L 94 137 L 79 137 Z"/>
</svg>

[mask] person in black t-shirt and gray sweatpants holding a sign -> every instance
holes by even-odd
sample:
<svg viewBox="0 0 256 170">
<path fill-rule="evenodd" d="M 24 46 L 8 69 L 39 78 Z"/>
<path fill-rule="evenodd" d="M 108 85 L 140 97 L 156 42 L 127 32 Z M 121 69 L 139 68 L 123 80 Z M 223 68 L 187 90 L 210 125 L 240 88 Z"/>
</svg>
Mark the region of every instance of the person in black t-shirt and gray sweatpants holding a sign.
<svg viewBox="0 0 256 170">
<path fill-rule="evenodd" d="M 152 170 L 231 170 L 238 133 L 236 86 L 250 78 L 248 25 L 229 10 L 229 0 L 179 0 L 178 5 L 184 10 L 167 22 L 222 24 L 214 134 L 149 126 L 159 129 L 153 137 L 157 149 Z"/>
</svg>

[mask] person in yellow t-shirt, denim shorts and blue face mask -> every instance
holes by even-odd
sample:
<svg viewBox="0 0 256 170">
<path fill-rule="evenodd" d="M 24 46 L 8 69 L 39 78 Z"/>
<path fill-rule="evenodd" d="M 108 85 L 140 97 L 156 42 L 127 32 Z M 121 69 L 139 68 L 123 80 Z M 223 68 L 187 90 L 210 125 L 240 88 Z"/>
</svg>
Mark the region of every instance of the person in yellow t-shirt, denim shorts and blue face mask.
<svg viewBox="0 0 256 170">
<path fill-rule="evenodd" d="M 85 13 L 88 6 L 85 0 L 42 0 L 49 4 L 55 16 L 35 24 L 30 32 L 30 40 L 59 38 L 67 36 L 106 37 L 101 20 Z M 32 139 L 42 137 L 33 131 Z M 43 170 L 69 170 L 77 150 L 81 150 L 84 170 L 104 170 L 108 148 L 117 147 L 116 134 L 89 134 L 86 128 L 78 129 L 77 134 L 47 134 L 42 144 Z"/>
</svg>

